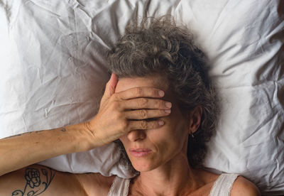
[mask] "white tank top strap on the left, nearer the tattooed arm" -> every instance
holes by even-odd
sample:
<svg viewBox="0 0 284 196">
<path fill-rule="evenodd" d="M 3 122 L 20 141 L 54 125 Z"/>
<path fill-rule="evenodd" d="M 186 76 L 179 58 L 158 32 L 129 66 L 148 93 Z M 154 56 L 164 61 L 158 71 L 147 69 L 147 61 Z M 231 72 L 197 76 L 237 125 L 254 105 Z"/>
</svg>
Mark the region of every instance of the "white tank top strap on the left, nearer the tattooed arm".
<svg viewBox="0 0 284 196">
<path fill-rule="evenodd" d="M 127 196 L 129 194 L 130 179 L 116 176 L 107 196 Z"/>
</svg>

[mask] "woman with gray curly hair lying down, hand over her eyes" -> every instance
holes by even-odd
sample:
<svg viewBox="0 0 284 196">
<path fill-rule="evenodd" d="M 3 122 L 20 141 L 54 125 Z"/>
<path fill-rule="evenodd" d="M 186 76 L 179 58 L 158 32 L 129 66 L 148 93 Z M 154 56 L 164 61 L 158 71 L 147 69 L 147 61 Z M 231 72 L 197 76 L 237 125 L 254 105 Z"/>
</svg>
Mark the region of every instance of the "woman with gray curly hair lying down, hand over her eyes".
<svg viewBox="0 0 284 196">
<path fill-rule="evenodd" d="M 92 121 L 1 140 L 0 195 L 260 195 L 241 176 L 202 169 L 217 107 L 187 31 L 170 18 L 145 19 L 126 29 L 108 59 L 115 74 Z M 136 178 L 31 165 L 112 141 Z"/>
</svg>

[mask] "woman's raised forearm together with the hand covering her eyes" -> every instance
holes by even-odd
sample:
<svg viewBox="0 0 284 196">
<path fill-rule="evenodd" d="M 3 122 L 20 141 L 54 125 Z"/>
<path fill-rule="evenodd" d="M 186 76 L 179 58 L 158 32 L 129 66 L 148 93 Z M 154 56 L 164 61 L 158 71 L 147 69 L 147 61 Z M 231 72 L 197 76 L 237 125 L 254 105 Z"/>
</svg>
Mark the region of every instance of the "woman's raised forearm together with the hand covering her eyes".
<svg viewBox="0 0 284 196">
<path fill-rule="evenodd" d="M 88 151 L 114 141 L 134 129 L 154 129 L 167 116 L 160 90 L 137 87 L 114 93 L 115 75 L 107 83 L 99 112 L 92 121 L 60 129 L 35 131 L 0 140 L 0 175 L 61 154 Z"/>
</svg>

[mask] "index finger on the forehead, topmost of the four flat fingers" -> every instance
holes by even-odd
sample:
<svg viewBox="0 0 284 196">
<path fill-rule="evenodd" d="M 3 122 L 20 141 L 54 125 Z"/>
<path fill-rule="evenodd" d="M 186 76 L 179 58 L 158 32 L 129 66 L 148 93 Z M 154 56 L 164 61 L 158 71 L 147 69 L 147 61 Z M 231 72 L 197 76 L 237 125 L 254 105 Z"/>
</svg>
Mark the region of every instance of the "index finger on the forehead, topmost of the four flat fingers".
<svg viewBox="0 0 284 196">
<path fill-rule="evenodd" d="M 134 99 L 137 97 L 153 97 L 160 98 L 163 97 L 165 93 L 160 89 L 155 89 L 153 87 L 134 87 L 127 89 L 122 92 L 116 93 L 117 99 Z"/>
</svg>

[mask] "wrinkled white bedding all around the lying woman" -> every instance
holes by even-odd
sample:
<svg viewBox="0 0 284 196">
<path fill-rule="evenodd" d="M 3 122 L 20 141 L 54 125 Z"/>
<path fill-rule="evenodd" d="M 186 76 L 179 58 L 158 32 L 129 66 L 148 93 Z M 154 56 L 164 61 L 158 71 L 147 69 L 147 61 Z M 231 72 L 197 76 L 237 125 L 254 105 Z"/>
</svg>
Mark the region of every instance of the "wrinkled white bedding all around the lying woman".
<svg viewBox="0 0 284 196">
<path fill-rule="evenodd" d="M 0 0 L 0 138 L 91 119 L 106 51 L 129 21 L 165 14 L 195 34 L 221 98 L 204 166 L 284 195 L 283 0 Z M 132 176 L 114 143 L 40 164 Z"/>
</svg>

